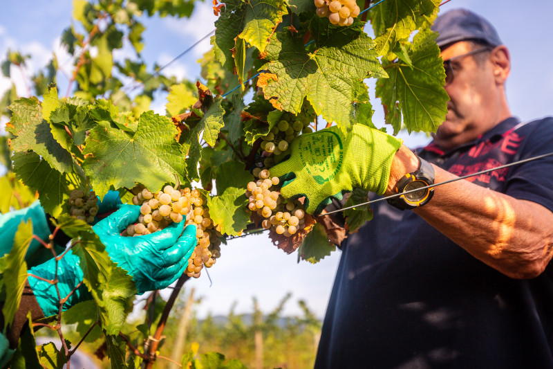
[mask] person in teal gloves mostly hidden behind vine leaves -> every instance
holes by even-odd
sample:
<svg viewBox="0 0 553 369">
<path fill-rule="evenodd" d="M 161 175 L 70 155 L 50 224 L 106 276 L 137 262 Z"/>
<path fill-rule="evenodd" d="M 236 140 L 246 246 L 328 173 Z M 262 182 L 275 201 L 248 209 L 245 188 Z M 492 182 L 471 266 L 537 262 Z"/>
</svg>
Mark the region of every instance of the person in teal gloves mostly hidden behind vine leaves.
<svg viewBox="0 0 553 369">
<path fill-rule="evenodd" d="M 185 222 L 172 223 L 151 235 L 122 237 L 120 233 L 126 226 L 138 219 L 140 206 L 123 205 L 118 192 L 110 191 L 101 202 L 99 213 L 106 215 L 112 210 L 116 211 L 97 222 L 92 229 L 106 246 L 111 260 L 129 273 L 139 294 L 164 289 L 184 273 L 187 260 L 196 246 L 196 226 L 189 225 L 185 228 Z M 39 201 L 35 201 L 28 208 L 0 214 L 0 229 L 3 232 L 3 237 L 0 238 L 0 256 L 12 249 L 17 227 L 22 221 L 32 222 L 33 235 L 49 242 L 52 226 Z M 54 241 L 57 242 L 57 254 L 61 255 L 68 238 L 58 232 Z M 10 363 L 28 312 L 36 320 L 58 314 L 59 296 L 69 296 L 62 310 L 92 298 L 84 284 L 72 292 L 82 282 L 83 272 L 79 258 L 71 250 L 56 264 L 51 251 L 46 250 L 41 242 L 32 240 L 25 259 L 32 268 L 28 271 L 28 282 L 15 318 L 9 322 L 9 330 L 4 332 L 6 336 L 0 334 L 0 368 Z M 56 277 L 59 296 L 55 285 L 49 282 Z M 4 327 L 1 314 L 0 326 Z"/>
</svg>

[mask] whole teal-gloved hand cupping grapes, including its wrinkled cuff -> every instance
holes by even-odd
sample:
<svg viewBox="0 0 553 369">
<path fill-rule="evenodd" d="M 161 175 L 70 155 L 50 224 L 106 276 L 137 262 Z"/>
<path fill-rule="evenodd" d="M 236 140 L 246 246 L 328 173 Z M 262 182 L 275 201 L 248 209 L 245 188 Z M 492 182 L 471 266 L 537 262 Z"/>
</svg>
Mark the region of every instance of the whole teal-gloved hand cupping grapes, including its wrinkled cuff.
<svg viewBox="0 0 553 369">
<path fill-rule="evenodd" d="M 196 246 L 196 226 L 187 226 L 182 235 L 180 233 L 184 222 L 172 223 L 162 231 L 150 235 L 120 236 L 126 226 L 138 219 L 138 215 L 140 215 L 140 206 L 123 205 L 120 210 L 93 226 L 93 231 L 106 246 L 111 260 L 129 273 L 138 293 L 143 294 L 154 289 L 164 289 L 184 273 L 188 259 Z M 57 278 L 62 298 L 82 280 L 82 269 L 79 264 L 79 258 L 71 251 L 59 260 Z M 53 280 L 55 260 L 48 260 L 28 272 L 46 280 Z M 59 298 L 55 285 L 32 276 L 29 276 L 28 281 L 44 315 L 57 314 Z M 68 298 L 63 310 L 91 298 L 91 294 L 83 284 Z"/>
</svg>

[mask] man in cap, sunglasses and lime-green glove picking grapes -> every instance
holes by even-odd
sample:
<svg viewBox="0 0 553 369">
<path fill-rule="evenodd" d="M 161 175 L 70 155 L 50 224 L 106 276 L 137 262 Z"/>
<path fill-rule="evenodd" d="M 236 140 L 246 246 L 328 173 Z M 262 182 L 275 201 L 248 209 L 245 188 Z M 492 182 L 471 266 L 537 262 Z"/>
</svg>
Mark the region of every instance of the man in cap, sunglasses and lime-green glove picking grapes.
<svg viewBox="0 0 553 369">
<path fill-rule="evenodd" d="M 354 128 L 335 138 L 344 161 L 317 158 L 339 168 L 322 185 L 292 165 L 294 154 L 272 168 L 289 181 L 283 195 L 306 195 L 320 210 L 355 186 L 393 195 L 410 173 L 440 183 L 553 151 L 552 118 L 521 123 L 509 110 L 509 52 L 493 26 L 452 10 L 433 30 L 451 101 L 422 160 Z M 292 150 L 309 158 L 316 134 Z M 375 204 L 373 220 L 342 244 L 315 367 L 553 368 L 552 183 L 549 156 L 391 201 L 408 210 Z"/>
</svg>

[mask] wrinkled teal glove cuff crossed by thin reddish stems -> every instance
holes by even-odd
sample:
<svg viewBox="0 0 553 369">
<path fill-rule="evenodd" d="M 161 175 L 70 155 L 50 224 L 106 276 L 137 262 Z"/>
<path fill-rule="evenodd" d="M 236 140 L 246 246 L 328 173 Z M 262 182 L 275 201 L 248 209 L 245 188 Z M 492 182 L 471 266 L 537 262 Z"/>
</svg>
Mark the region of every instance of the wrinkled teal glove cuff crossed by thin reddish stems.
<svg viewBox="0 0 553 369">
<path fill-rule="evenodd" d="M 55 280 L 56 260 L 52 258 L 43 264 L 37 265 L 37 267 L 31 268 L 28 273 L 46 280 Z M 44 316 L 57 314 L 59 311 L 59 297 L 57 296 L 55 285 L 46 282 L 46 280 L 34 278 L 33 276 L 28 276 L 27 279 Z M 79 258 L 77 255 L 73 255 L 71 250 L 67 251 L 64 257 L 57 262 L 57 280 L 57 288 L 62 298 L 65 298 L 73 288 L 82 281 L 82 269 L 80 267 Z M 92 295 L 88 292 L 84 283 L 82 283 L 82 285 L 69 296 L 64 304 L 63 310 L 65 311 L 76 303 L 90 300 L 91 298 Z"/>
</svg>

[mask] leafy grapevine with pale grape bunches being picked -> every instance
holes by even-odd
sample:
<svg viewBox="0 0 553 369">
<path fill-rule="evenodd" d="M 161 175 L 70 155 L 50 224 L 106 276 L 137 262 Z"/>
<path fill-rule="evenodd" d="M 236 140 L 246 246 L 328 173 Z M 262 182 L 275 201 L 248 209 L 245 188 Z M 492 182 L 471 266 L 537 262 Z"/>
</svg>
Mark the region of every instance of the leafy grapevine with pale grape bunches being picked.
<svg viewBox="0 0 553 369">
<path fill-rule="evenodd" d="M 8 158 L 4 182 L 19 181 L 6 187 L 13 201 L 4 208 L 37 196 L 55 224 L 53 233 L 73 240 L 69 247 L 79 255 L 81 283 L 95 312 L 84 336 L 100 330 L 112 366 L 126 366 L 127 357 L 135 367 L 153 366 L 178 289 L 216 263 L 225 239 L 266 230 L 279 249 L 318 262 L 335 250 L 346 229 L 353 232 L 371 219 L 366 207 L 348 211 L 345 226 L 314 218 L 303 199 L 283 198 L 281 179 L 271 176 L 272 166 L 290 154 L 302 134 L 337 125 L 347 136 L 355 124 L 374 126 L 366 78 L 377 79 L 389 133 L 402 127 L 433 132 L 442 123 L 448 98 L 430 30 L 439 1 L 378 4 L 367 13 L 375 35 L 370 37 L 365 19 L 358 17 L 362 1 L 214 1 L 213 47 L 200 60 L 202 81 L 195 82 L 148 73 L 153 68 L 136 61 L 144 46 L 139 15 L 186 18 L 192 3 L 76 1 L 78 26 L 62 35 L 74 60 L 66 95 L 58 94 L 59 66 L 53 60 L 32 78 L 37 96 L 19 97 L 11 89 L 0 100 L 0 114 L 10 120 L 9 136 L 0 141 Z M 114 60 L 123 39 L 138 58 Z M 2 69 L 19 68 L 25 60 L 12 52 Z M 123 77 L 133 80 L 130 87 Z M 160 91 L 168 93 L 165 115 L 150 107 Z M 126 329 L 133 280 L 91 229 L 102 215 L 97 197 L 109 190 L 118 191 L 124 204 L 140 206 L 140 217 L 123 236 L 155 233 L 171 222 L 196 226 L 196 247 L 185 273 L 175 276 L 177 287 L 153 336 L 143 329 L 151 321 Z M 17 191 L 26 194 L 21 201 Z M 357 192 L 348 201 L 357 204 L 365 197 Z M 43 242 L 47 249 L 53 249 L 54 236 Z M 18 240 L 29 237 L 21 233 Z M 26 246 L 14 247 L 22 252 Z M 15 269 L 26 270 L 19 262 Z M 22 285 L 20 277 L 10 275 L 4 286 Z M 55 318 L 57 324 L 47 326 L 58 330 L 62 314 Z M 69 364 L 76 348 L 70 351 L 60 338 L 64 352 L 37 348 L 25 354 L 39 352 L 37 361 Z"/>
</svg>

